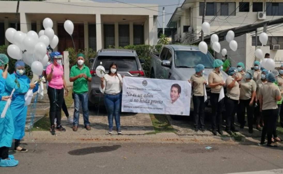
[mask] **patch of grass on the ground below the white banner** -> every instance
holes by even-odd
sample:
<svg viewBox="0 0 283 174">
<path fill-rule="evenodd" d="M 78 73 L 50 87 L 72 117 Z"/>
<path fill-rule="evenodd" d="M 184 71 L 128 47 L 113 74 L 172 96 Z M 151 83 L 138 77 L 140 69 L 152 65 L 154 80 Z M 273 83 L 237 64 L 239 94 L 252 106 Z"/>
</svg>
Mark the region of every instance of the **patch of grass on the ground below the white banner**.
<svg viewBox="0 0 283 174">
<path fill-rule="evenodd" d="M 146 134 L 156 134 L 160 132 L 173 132 L 176 130 L 170 125 L 167 116 L 164 114 L 149 114 L 151 118 L 152 125 L 154 127 L 153 132 L 148 132 Z"/>
</svg>

